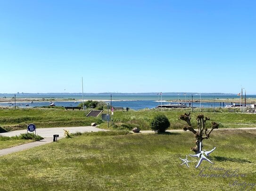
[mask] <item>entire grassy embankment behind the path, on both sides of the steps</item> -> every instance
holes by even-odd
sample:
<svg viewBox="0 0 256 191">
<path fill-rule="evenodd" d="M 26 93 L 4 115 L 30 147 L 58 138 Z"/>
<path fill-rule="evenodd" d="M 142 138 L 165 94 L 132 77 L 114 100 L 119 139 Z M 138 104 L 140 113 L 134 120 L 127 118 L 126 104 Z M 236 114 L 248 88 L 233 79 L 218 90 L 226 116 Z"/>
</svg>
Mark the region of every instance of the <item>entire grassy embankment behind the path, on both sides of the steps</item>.
<svg viewBox="0 0 256 191">
<path fill-rule="evenodd" d="M 92 122 L 101 124 L 101 116 L 86 117 L 90 110 L 64 110 L 59 108 L 30 108 L 30 109 L 0 109 L 0 130 L 21 130 L 26 129 L 29 123 L 34 123 L 37 128 L 46 127 L 74 127 L 90 126 Z M 104 111 L 107 113 L 107 111 Z M 141 130 L 150 130 L 150 121 L 159 110 L 140 110 L 128 112 L 115 111 L 114 125 L 109 122 L 109 129 L 132 130 L 139 127 Z M 179 116 L 189 110 L 164 110 L 170 123 L 170 129 L 182 129 L 185 122 L 178 120 Z M 191 122 L 196 126 L 196 116 L 204 114 L 210 117 L 211 121 L 220 123 L 221 128 L 256 127 L 256 115 L 245 113 L 213 113 L 213 112 L 192 112 Z M 208 123 L 210 125 L 210 123 Z M 102 123 L 100 128 L 107 129 L 107 122 Z"/>
</svg>

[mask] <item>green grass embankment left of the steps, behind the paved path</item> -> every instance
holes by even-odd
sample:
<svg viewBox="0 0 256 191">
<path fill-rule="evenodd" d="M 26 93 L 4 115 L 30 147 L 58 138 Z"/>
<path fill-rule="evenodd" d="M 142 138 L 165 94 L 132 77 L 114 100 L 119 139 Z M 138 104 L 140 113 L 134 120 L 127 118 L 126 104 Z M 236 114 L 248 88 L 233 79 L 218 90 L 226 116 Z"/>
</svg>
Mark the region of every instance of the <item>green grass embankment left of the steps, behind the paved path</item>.
<svg viewBox="0 0 256 191">
<path fill-rule="evenodd" d="M 102 122 L 100 117 L 86 117 L 87 112 L 58 108 L 0 109 L 0 127 L 21 130 L 26 129 L 29 123 L 34 123 L 37 128 L 48 128 L 89 126 L 92 122 Z"/>
</svg>

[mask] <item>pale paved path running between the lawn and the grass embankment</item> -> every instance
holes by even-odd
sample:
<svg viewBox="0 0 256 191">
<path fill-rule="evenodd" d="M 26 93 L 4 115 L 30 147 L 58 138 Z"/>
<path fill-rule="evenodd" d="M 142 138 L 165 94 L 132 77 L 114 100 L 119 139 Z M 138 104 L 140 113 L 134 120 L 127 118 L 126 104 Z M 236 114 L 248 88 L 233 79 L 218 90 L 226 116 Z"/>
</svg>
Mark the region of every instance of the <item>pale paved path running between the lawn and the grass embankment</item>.
<svg viewBox="0 0 256 191">
<path fill-rule="evenodd" d="M 53 142 L 53 135 L 59 135 L 59 138 L 64 138 L 64 130 L 68 130 L 70 133 L 75 133 L 75 132 L 96 132 L 96 131 L 105 131 L 103 129 L 99 129 L 96 127 L 91 127 L 91 126 L 86 126 L 86 127 L 55 127 L 55 128 L 41 128 L 36 130 L 36 134 L 40 135 L 43 137 L 43 140 L 40 141 L 35 141 L 32 143 L 27 143 L 24 145 L 18 145 L 18 146 L 13 146 L 7 149 L 1 149 L 0 150 L 0 156 L 9 154 L 9 153 L 15 153 L 18 151 L 23 151 L 26 149 L 33 148 L 35 146 L 40 146 L 44 145 L 47 143 Z M 216 130 L 256 130 L 256 127 L 252 128 L 227 128 L 227 129 L 216 129 Z M 168 132 L 182 132 L 183 130 L 166 130 Z M 6 133 L 0 133 L 0 136 L 7 136 L 7 137 L 12 137 L 12 136 L 18 136 L 21 133 L 26 133 L 27 130 L 16 130 L 16 131 L 11 131 L 11 132 L 6 132 Z M 189 131 L 188 131 L 189 132 Z M 141 130 L 140 133 L 153 133 L 152 130 Z"/>
</svg>

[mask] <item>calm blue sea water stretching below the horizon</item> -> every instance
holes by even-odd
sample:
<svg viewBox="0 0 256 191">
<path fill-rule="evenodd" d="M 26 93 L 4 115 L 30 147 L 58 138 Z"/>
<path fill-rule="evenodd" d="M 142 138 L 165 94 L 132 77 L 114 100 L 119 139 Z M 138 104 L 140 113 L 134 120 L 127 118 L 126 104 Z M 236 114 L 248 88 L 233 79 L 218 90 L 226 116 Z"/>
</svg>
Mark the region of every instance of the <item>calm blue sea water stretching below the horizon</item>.
<svg viewBox="0 0 256 191">
<path fill-rule="evenodd" d="M 13 94 L 10 95 L 4 95 L 6 97 L 12 98 Z M 3 96 L 1 95 L 1 98 Z M 54 103 L 56 106 L 77 106 L 79 103 L 81 103 L 82 95 L 22 95 L 17 96 L 18 98 L 45 98 L 47 99 L 55 99 Z M 58 99 L 76 99 L 80 100 L 75 103 L 74 101 L 58 101 Z M 104 100 L 110 103 L 110 95 L 86 95 L 83 96 L 84 100 Z M 179 102 L 168 102 L 170 100 L 181 100 Z M 199 100 L 199 95 L 193 95 L 193 107 L 199 107 L 200 104 L 194 102 L 195 100 Z M 210 99 L 212 102 L 210 103 L 201 103 L 201 107 L 225 107 L 226 105 L 231 105 L 233 99 L 239 99 L 239 96 L 237 95 L 201 95 L 201 99 Z M 250 104 L 250 99 L 256 99 L 256 95 L 247 95 L 247 103 Z M 160 100 L 157 102 L 157 100 Z M 185 104 L 185 100 L 191 100 L 191 95 L 162 95 L 162 102 L 163 105 L 165 104 L 178 104 L 182 103 Z M 0 106 L 7 106 L 7 107 L 14 107 L 14 99 L 12 103 L 0 103 Z M 23 104 L 23 105 L 21 105 Z M 28 105 L 28 106 L 26 106 Z M 24 102 L 24 103 L 16 103 L 17 107 L 40 107 L 40 106 L 49 106 L 49 101 L 44 102 Z M 160 95 L 112 95 L 112 105 L 114 107 L 129 107 L 134 110 L 144 109 L 144 108 L 155 108 L 157 105 L 161 105 L 161 96 Z M 189 103 L 186 103 L 186 105 L 189 105 Z"/>
</svg>

